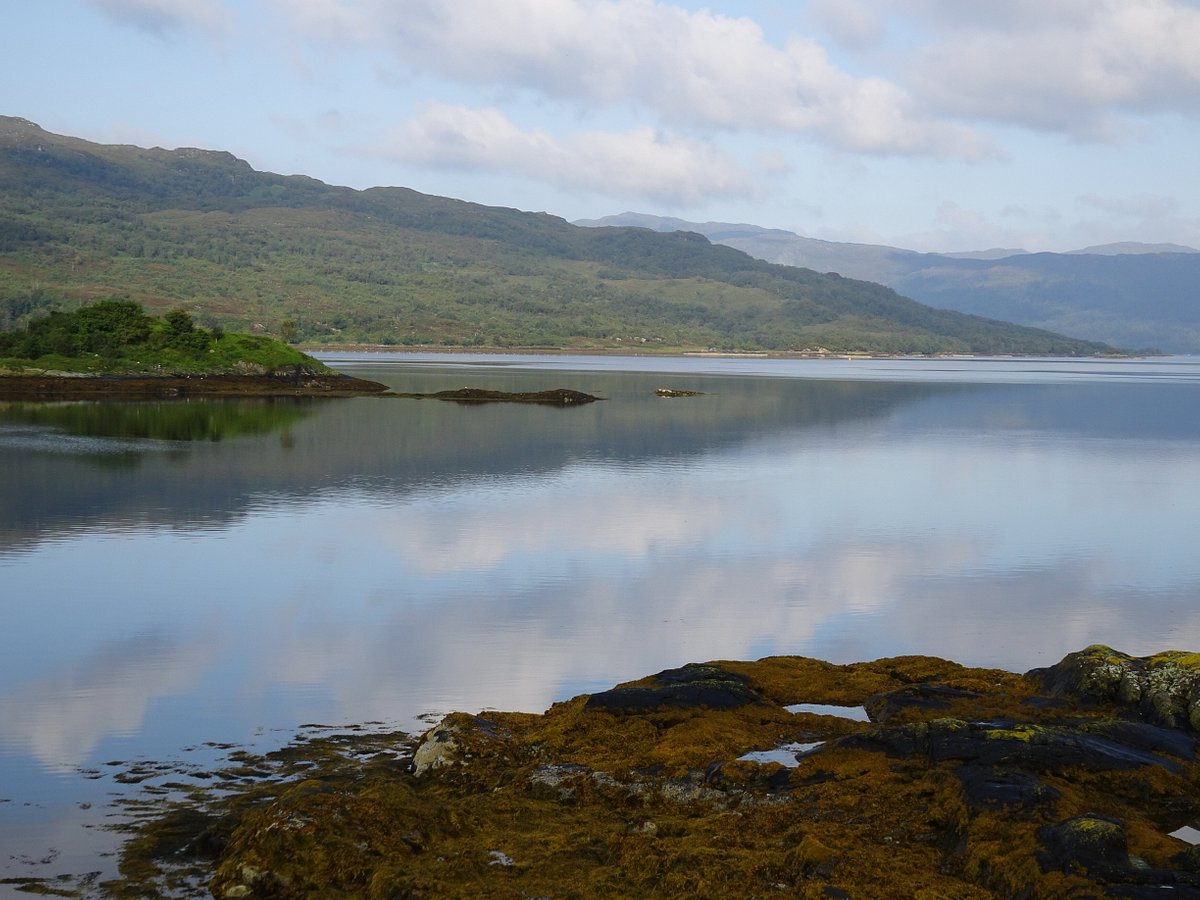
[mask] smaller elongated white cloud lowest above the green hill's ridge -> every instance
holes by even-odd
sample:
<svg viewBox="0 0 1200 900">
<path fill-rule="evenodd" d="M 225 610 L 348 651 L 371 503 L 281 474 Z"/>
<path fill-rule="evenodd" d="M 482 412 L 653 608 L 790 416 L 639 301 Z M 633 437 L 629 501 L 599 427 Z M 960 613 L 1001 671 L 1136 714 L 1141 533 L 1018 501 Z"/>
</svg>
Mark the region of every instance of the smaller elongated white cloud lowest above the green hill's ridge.
<svg viewBox="0 0 1200 900">
<path fill-rule="evenodd" d="M 522 131 L 499 109 L 436 102 L 380 152 L 404 162 L 521 175 L 671 204 L 752 192 L 749 175 L 706 142 L 648 127 L 559 139 L 541 130 Z"/>
</svg>

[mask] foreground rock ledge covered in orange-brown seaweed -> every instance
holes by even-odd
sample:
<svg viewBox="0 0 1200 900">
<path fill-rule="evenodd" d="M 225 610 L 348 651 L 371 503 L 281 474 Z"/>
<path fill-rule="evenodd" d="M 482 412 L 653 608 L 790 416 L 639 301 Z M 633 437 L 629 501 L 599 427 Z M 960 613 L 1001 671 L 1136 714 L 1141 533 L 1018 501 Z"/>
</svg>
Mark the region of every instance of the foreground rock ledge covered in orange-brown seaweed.
<svg viewBox="0 0 1200 900">
<path fill-rule="evenodd" d="M 191 842 L 175 809 L 138 846 L 209 854 L 218 898 L 1200 898 L 1171 836 L 1200 822 L 1198 726 L 1198 654 L 689 665 L 415 744 L 304 742 Z"/>
</svg>

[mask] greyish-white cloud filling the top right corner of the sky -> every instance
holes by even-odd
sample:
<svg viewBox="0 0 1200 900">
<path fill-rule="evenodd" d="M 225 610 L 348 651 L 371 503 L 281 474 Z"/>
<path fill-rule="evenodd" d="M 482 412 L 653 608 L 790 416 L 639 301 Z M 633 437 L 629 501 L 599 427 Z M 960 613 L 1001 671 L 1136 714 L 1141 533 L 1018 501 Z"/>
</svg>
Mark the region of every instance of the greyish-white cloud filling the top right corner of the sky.
<svg viewBox="0 0 1200 900">
<path fill-rule="evenodd" d="M 1200 113 L 1200 8 L 1183 0 L 929 0 L 913 90 L 948 113 L 1111 139 L 1130 114 Z"/>
</svg>

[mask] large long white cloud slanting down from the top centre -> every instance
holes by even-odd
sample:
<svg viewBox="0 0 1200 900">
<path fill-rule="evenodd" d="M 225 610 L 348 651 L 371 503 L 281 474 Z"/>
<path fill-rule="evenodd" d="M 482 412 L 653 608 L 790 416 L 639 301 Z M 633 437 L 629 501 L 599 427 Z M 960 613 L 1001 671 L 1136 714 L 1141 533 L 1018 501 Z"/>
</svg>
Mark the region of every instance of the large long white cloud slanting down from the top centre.
<svg viewBox="0 0 1200 900">
<path fill-rule="evenodd" d="M 676 128 L 796 134 L 869 154 L 978 158 L 988 142 L 937 121 L 896 84 L 857 78 L 799 35 L 653 0 L 305 0 L 317 37 L 377 42 L 395 65 L 584 110 L 635 108 Z"/>
</svg>

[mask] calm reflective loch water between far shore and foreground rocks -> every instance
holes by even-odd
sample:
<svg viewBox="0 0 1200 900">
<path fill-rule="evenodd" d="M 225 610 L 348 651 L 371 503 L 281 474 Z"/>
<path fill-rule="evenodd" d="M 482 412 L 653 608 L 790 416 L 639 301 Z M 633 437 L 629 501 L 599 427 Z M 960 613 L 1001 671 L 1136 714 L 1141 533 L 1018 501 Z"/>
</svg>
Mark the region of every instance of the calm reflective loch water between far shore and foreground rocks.
<svg viewBox="0 0 1200 900">
<path fill-rule="evenodd" d="M 0 878 L 112 871 L 109 763 L 205 742 L 718 658 L 1200 649 L 1198 359 L 331 359 L 607 400 L 0 408 Z"/>
</svg>

